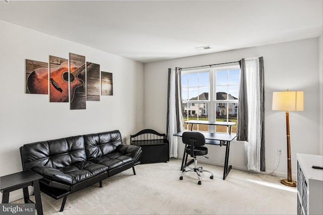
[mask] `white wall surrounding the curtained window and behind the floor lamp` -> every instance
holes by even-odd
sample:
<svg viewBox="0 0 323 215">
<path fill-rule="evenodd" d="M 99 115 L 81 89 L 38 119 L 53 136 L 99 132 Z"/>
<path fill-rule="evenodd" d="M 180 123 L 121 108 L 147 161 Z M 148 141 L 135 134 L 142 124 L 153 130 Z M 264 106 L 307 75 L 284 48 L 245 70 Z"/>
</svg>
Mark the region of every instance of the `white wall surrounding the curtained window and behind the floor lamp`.
<svg viewBox="0 0 323 215">
<path fill-rule="evenodd" d="M 145 127 L 166 133 L 168 68 L 232 62 L 241 58 L 263 56 L 265 78 L 265 148 L 266 172 L 278 165 L 277 175 L 287 176 L 285 112 L 272 111 L 273 91 L 304 91 L 304 111 L 290 112 L 292 174 L 296 175 L 296 153 L 319 154 L 319 68 L 318 38 L 238 49 L 213 54 L 157 61 L 144 64 Z M 184 144 L 179 141 L 178 155 Z M 223 165 L 225 147 L 207 146 L 209 159 L 204 162 Z M 181 158 L 181 157 L 180 157 Z M 246 170 L 244 146 L 233 141 L 229 163 Z"/>
</svg>

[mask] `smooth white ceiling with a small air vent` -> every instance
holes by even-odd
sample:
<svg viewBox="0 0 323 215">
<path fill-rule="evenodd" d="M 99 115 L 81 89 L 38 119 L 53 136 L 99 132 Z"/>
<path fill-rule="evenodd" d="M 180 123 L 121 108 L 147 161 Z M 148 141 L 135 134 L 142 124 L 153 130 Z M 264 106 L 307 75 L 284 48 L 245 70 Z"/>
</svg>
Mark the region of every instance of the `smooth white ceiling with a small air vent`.
<svg viewBox="0 0 323 215">
<path fill-rule="evenodd" d="M 322 11 L 322 0 L 9 1 L 0 20 L 145 63 L 318 37 Z"/>
</svg>

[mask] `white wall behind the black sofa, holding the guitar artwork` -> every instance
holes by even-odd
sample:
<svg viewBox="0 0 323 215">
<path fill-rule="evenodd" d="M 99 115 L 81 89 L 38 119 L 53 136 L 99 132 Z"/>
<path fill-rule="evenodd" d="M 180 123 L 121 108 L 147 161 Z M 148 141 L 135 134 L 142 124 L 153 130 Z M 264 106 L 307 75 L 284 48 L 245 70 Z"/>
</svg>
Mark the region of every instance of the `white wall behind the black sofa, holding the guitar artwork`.
<svg viewBox="0 0 323 215">
<path fill-rule="evenodd" d="M 143 127 L 143 64 L 0 21 L 0 175 L 22 170 L 19 147 L 33 141 L 119 129 L 124 144 Z M 49 103 L 48 95 L 25 94 L 25 59 L 48 62 L 69 53 L 113 73 L 113 96 L 86 102 Z M 12 194 L 11 194 L 12 195 Z"/>
</svg>

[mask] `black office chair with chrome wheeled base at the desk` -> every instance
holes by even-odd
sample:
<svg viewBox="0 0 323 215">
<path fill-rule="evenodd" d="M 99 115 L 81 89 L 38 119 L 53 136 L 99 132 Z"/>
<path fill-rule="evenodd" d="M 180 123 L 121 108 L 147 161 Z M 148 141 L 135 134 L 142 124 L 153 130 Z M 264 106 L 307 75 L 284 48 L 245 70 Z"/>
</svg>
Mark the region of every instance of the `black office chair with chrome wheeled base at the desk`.
<svg viewBox="0 0 323 215">
<path fill-rule="evenodd" d="M 183 172 L 181 174 L 180 180 L 183 180 L 183 175 L 187 172 L 196 172 L 197 177 L 198 177 L 198 183 L 197 184 L 201 184 L 201 175 L 200 172 L 208 172 L 211 174 L 210 179 L 213 179 L 213 173 L 211 173 L 208 170 L 203 170 L 202 167 L 198 167 L 197 166 L 197 158 L 196 156 L 204 156 L 207 155 L 207 148 L 204 147 L 205 145 L 205 137 L 203 134 L 199 133 L 199 132 L 192 132 L 192 131 L 185 131 L 183 132 L 182 135 L 182 140 L 183 143 L 188 145 L 185 148 L 186 154 L 190 155 L 194 160 L 194 168 L 187 166 L 187 164 L 185 164 L 185 166 L 183 167 Z M 187 156 L 186 155 L 186 156 Z M 208 158 L 206 156 L 204 156 L 205 158 Z M 191 161 L 191 162 L 192 162 Z M 191 162 L 189 162 L 188 164 L 190 164 Z M 189 168 L 189 170 L 185 170 L 186 168 Z"/>
</svg>

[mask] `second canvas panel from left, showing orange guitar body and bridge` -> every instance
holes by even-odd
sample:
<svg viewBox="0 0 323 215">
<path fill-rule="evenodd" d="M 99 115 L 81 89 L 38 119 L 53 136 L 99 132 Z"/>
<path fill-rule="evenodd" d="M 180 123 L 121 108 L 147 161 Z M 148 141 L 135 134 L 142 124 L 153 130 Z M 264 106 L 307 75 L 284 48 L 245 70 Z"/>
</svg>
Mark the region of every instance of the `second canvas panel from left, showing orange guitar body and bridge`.
<svg viewBox="0 0 323 215">
<path fill-rule="evenodd" d="M 49 102 L 69 102 L 68 59 L 49 56 Z"/>
</svg>

